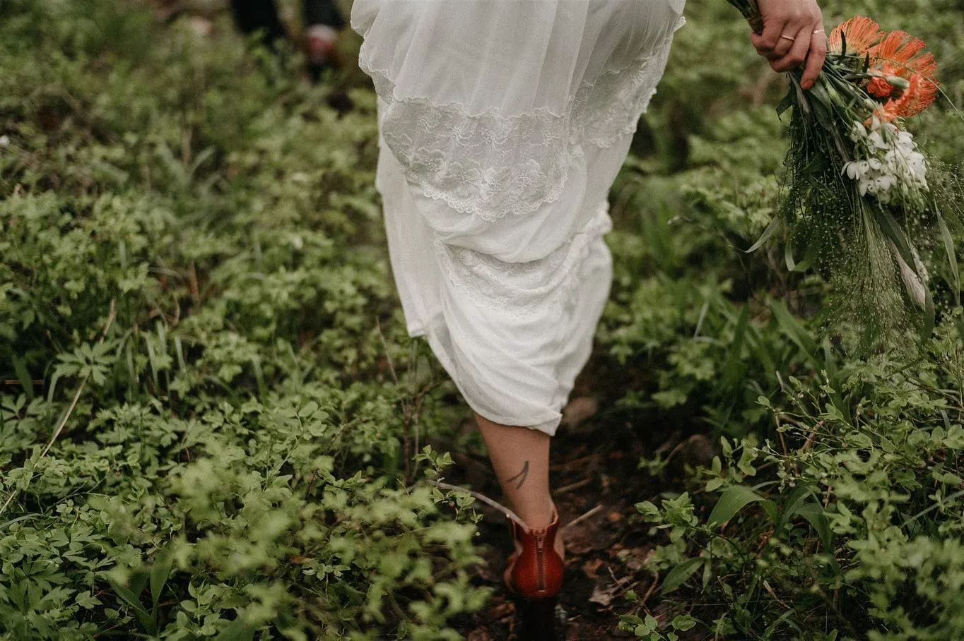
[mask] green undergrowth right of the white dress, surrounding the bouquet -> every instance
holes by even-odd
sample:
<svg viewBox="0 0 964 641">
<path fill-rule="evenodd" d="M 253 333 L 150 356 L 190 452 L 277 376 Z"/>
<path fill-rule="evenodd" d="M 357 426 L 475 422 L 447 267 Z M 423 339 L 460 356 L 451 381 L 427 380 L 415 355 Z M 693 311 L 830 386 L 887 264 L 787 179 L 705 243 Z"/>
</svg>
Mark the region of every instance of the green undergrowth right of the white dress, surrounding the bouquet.
<svg viewBox="0 0 964 641">
<path fill-rule="evenodd" d="M 677 61 L 693 60 L 694 43 L 731 46 L 721 41 L 729 27 L 707 24 L 718 6 L 732 11 L 687 4 Z M 943 3 L 927 6 L 926 18 L 919 3 L 831 3 L 825 14 L 830 26 L 864 13 L 921 36 L 956 99 L 964 34 L 944 20 Z M 801 249 L 780 246 L 778 234 L 770 248 L 741 251 L 774 213 L 783 90 L 754 87 L 741 57 L 677 68 L 671 60 L 671 91 L 687 79 L 711 85 L 688 94 L 687 110 L 702 121 L 687 138 L 683 171 L 673 154 L 624 170 L 629 195 L 619 201 L 616 192 L 625 207 L 616 214 L 623 230 L 640 227 L 642 240 L 615 234 L 617 278 L 599 338 L 627 369 L 645 372 L 644 387 L 618 402 L 630 423 L 649 431 L 654 415 L 675 424 L 695 415 L 718 447 L 710 463 L 683 470 L 666 454 L 640 461 L 676 489 L 636 504 L 658 542 L 647 569 L 659 589 L 648 603 L 628 594 L 620 628 L 675 638 L 674 617 L 685 616 L 706 638 L 959 638 L 964 335 L 955 266 L 931 263 L 946 260 L 944 246 L 959 247 L 960 230 L 927 246 L 940 321 L 920 353 L 845 352 L 854 337 L 827 331 L 831 289 L 808 272 Z M 763 108 L 721 96 L 731 82 Z M 664 110 L 675 108 L 664 96 L 647 117 L 670 121 Z M 944 105 L 909 128 L 952 164 L 960 150 L 945 137 L 961 126 Z M 654 616 L 656 595 L 675 607 Z"/>
</svg>

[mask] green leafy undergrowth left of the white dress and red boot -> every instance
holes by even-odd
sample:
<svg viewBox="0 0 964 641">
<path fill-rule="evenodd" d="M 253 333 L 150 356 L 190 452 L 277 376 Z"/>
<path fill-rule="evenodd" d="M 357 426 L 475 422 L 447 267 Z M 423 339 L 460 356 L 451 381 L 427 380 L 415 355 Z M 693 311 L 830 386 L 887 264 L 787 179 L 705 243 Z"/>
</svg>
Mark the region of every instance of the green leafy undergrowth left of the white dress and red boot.
<svg viewBox="0 0 964 641">
<path fill-rule="evenodd" d="M 448 388 L 391 297 L 373 95 L 222 27 L 0 6 L 0 638 L 457 638 L 488 592 L 415 458 Z"/>
</svg>

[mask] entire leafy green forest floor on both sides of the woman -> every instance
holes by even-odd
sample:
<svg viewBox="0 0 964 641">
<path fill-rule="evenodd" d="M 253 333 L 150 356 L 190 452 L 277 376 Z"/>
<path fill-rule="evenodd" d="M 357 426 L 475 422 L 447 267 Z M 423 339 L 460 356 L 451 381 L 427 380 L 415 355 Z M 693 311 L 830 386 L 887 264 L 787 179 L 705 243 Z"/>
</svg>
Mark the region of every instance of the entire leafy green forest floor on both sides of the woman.
<svg viewBox="0 0 964 641">
<path fill-rule="evenodd" d="M 953 3 L 859 10 L 926 39 L 960 104 Z M 690 3 L 612 192 L 613 292 L 553 445 L 560 627 L 956 638 L 955 278 L 923 348 L 858 359 L 818 274 L 742 253 L 783 85 L 732 11 Z M 295 62 L 227 21 L 0 4 L 0 638 L 514 638 L 504 520 L 431 484 L 497 492 L 404 335 L 373 93 Z M 962 130 L 915 134 L 959 162 Z"/>
</svg>

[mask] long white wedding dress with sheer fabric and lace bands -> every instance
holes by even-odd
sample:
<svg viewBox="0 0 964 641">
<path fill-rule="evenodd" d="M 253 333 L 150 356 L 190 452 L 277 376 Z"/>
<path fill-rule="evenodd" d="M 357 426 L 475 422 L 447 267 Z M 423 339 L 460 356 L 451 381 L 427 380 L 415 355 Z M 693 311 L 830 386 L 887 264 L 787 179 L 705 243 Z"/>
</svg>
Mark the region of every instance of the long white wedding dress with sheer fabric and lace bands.
<svg viewBox="0 0 964 641">
<path fill-rule="evenodd" d="M 555 433 L 609 292 L 607 192 L 683 0 L 355 0 L 408 330 L 469 406 Z"/>
</svg>

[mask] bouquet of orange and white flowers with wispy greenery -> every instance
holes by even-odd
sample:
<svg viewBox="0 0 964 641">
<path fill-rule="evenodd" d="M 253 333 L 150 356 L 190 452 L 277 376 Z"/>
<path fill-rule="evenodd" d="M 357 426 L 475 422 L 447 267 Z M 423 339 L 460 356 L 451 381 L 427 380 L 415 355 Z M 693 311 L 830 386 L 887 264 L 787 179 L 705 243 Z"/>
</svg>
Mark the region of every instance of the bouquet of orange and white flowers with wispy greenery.
<svg viewBox="0 0 964 641">
<path fill-rule="evenodd" d="M 755 0 L 728 2 L 762 31 Z M 958 281 L 945 217 L 959 213 L 962 190 L 959 177 L 928 157 L 903 120 L 934 101 L 937 64 L 923 40 L 884 32 L 867 17 L 845 21 L 828 38 L 810 90 L 790 74 L 790 92 L 778 107 L 781 114 L 792 109 L 783 193 L 750 250 L 786 227 L 788 267 L 829 273 L 837 317 L 863 327 L 865 345 L 891 342 L 922 312 L 929 335 L 934 304 L 921 252 L 943 245 Z M 794 246 L 803 251 L 799 263 Z"/>
</svg>

